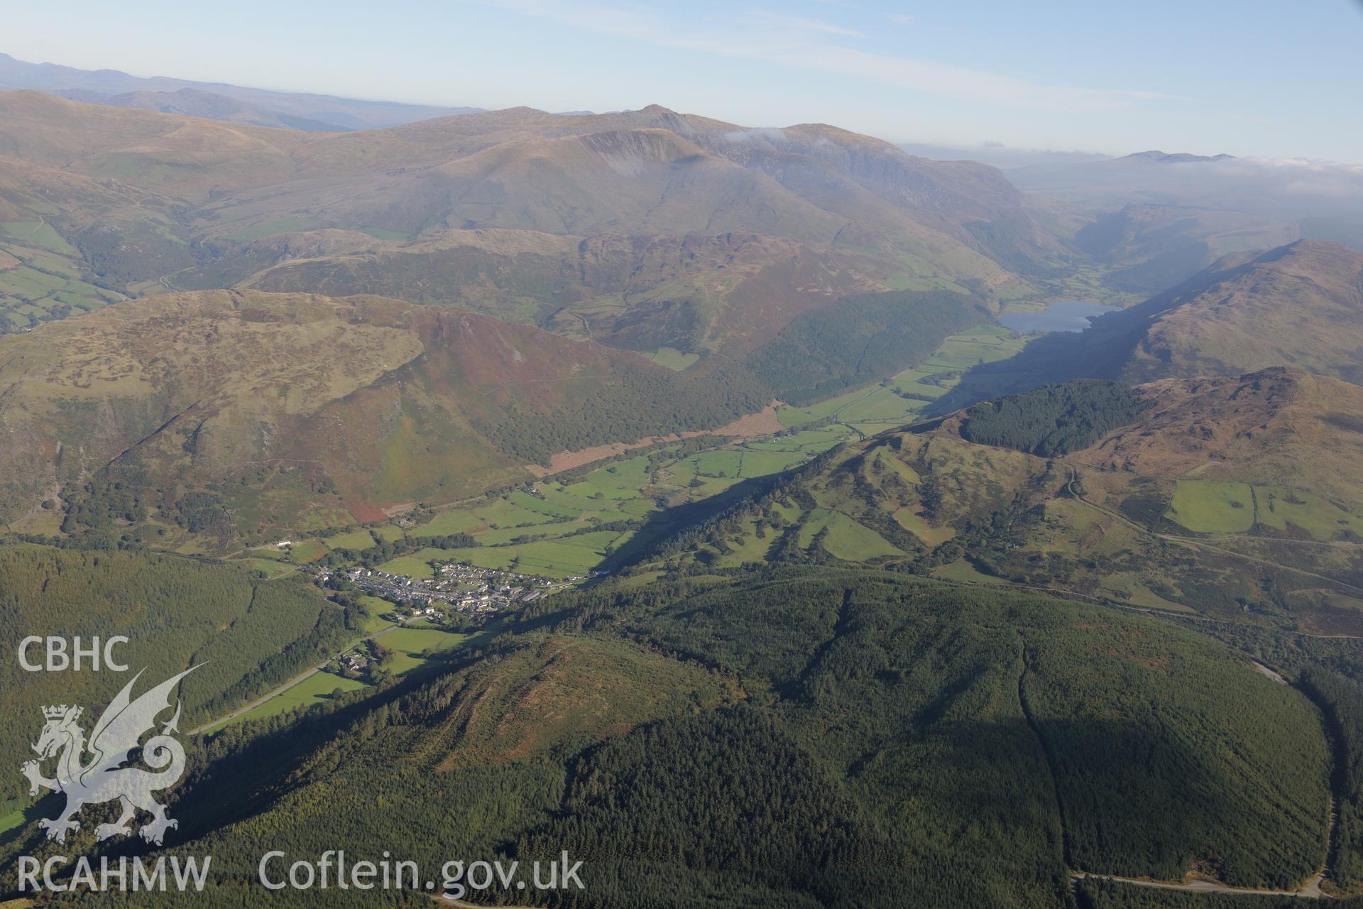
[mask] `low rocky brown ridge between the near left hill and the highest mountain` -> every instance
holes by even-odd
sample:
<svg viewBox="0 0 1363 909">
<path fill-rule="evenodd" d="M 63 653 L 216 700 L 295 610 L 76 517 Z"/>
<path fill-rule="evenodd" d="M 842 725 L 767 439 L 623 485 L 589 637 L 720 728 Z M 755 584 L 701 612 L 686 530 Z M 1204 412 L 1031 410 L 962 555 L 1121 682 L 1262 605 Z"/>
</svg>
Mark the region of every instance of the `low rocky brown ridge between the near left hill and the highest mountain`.
<svg viewBox="0 0 1363 909">
<path fill-rule="evenodd" d="M 267 237 L 174 279 L 181 286 L 382 293 L 630 350 L 688 352 L 750 349 L 801 312 L 885 289 L 864 256 L 756 233 L 578 238 L 476 229 L 391 251 L 354 238 L 330 230 Z"/>
</svg>

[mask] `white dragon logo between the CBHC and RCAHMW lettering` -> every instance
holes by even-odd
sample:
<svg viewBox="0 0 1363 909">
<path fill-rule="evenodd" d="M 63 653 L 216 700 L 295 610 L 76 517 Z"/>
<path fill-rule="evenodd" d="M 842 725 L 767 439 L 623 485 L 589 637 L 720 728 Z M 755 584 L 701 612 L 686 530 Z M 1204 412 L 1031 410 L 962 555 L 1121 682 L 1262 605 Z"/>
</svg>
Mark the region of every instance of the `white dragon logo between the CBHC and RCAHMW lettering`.
<svg viewBox="0 0 1363 909">
<path fill-rule="evenodd" d="M 180 826 L 166 815 L 165 805 L 151 797 L 154 790 L 173 786 L 184 773 L 184 747 L 170 736 L 172 732 L 179 732 L 176 728 L 180 721 L 179 698 L 174 715 L 161 729 L 161 735 L 151 736 L 144 744 L 142 736 L 155 726 L 157 715 L 170 709 L 170 692 L 180 680 L 198 668 L 191 666 L 132 700 L 132 685 L 142 676 L 139 672 L 105 709 L 90 735 L 89 744 L 85 730 L 76 725 L 83 713 L 82 707 L 59 705 L 42 709 L 46 725 L 33 745 L 38 760 L 26 762 L 22 770 L 31 784 L 30 796 L 38 795 L 40 788 L 67 796 L 67 807 L 60 816 L 38 822 L 38 826 L 48 831 L 48 839 L 64 842 L 67 831 L 79 829 L 80 823 L 72 818 L 82 805 L 114 799 L 123 803 L 123 814 L 114 823 L 95 827 L 98 839 L 131 834 L 132 827 L 128 822 L 139 808 L 153 818 L 139 831 L 147 842 L 159 846 L 166 830 Z M 139 745 L 142 759 L 155 773 L 123 766 Z M 87 750 L 91 758 L 87 763 L 82 763 Z M 49 780 L 42 775 L 41 762 L 55 756 L 56 778 Z"/>
</svg>

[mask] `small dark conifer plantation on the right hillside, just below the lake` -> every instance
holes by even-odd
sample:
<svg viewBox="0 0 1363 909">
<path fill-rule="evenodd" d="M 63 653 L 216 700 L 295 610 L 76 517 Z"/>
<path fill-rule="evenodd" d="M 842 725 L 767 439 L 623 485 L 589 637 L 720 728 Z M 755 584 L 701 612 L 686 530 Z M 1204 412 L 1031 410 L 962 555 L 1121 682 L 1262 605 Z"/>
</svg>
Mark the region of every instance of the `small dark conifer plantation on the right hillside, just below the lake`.
<svg viewBox="0 0 1363 909">
<path fill-rule="evenodd" d="M 966 442 L 1052 458 L 1135 422 L 1152 405 L 1116 382 L 1074 379 L 977 403 L 965 412 L 961 435 Z"/>
</svg>

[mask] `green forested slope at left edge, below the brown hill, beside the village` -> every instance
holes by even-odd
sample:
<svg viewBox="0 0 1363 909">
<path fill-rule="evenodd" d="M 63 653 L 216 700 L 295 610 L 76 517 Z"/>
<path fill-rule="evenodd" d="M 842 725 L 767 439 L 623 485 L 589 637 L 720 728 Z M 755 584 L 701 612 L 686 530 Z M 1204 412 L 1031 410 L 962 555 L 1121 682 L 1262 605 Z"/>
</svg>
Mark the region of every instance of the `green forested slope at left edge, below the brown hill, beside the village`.
<svg viewBox="0 0 1363 909">
<path fill-rule="evenodd" d="M 358 613 L 327 602 L 300 579 L 260 581 L 237 567 L 146 552 L 0 545 L 0 751 L 19 755 L 42 728 L 40 707 L 80 703 L 89 724 L 144 669 L 136 691 L 203 664 L 184 680 L 189 729 L 297 675 L 356 636 Z M 353 626 L 353 627 L 352 627 Z M 30 635 L 124 635 L 117 672 L 25 672 Z M 41 658 L 41 649 L 30 662 Z M 89 728 L 87 728 L 89 732 Z M 27 797 L 18 774 L 0 780 L 0 801 Z"/>
</svg>

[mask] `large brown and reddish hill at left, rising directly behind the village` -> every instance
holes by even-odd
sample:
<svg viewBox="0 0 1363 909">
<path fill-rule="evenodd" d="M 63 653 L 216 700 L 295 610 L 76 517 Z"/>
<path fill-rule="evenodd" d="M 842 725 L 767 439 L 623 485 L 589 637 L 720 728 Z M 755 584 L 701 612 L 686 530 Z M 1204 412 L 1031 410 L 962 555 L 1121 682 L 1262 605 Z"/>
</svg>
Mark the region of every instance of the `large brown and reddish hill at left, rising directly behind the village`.
<svg viewBox="0 0 1363 909">
<path fill-rule="evenodd" d="M 450 502 L 562 448 L 713 428 L 767 402 L 743 373 L 682 376 L 476 313 L 240 292 L 0 338 L 0 390 L 7 518 L 61 493 L 79 530 L 128 488 L 154 521 L 221 545 Z"/>
</svg>

